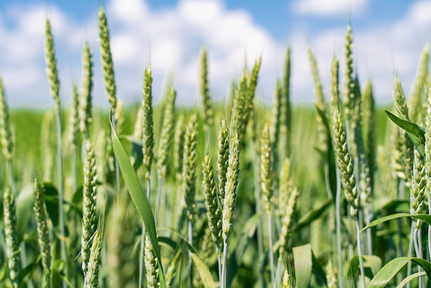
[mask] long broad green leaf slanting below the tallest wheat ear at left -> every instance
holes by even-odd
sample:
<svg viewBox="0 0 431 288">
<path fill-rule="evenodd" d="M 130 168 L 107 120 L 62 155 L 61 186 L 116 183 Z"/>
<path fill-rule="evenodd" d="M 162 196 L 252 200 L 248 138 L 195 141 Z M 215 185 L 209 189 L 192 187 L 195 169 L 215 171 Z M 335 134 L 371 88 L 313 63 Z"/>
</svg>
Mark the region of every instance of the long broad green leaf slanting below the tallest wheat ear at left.
<svg viewBox="0 0 431 288">
<path fill-rule="evenodd" d="M 112 111 L 109 112 L 109 119 L 112 119 L 111 114 Z M 112 148 L 114 149 L 114 154 L 118 161 L 118 166 L 120 167 L 121 174 L 123 175 L 125 185 L 127 187 L 127 190 L 129 191 L 130 196 L 132 197 L 133 203 L 138 210 L 138 213 L 140 214 L 140 217 L 144 221 L 146 232 L 154 249 L 154 254 L 156 254 L 158 258 L 160 286 L 165 288 L 165 274 L 163 274 L 163 267 L 161 262 L 162 258 L 160 257 L 160 247 L 158 246 L 156 225 L 154 223 L 153 213 L 151 212 L 151 206 L 149 205 L 148 198 L 142 185 L 140 185 L 138 176 L 136 175 L 136 172 L 132 167 L 132 163 L 130 163 L 129 161 L 129 156 L 125 152 L 123 145 L 121 145 L 120 140 L 118 139 L 118 136 L 114 130 L 114 127 L 112 127 L 112 122 L 111 138 Z"/>
</svg>

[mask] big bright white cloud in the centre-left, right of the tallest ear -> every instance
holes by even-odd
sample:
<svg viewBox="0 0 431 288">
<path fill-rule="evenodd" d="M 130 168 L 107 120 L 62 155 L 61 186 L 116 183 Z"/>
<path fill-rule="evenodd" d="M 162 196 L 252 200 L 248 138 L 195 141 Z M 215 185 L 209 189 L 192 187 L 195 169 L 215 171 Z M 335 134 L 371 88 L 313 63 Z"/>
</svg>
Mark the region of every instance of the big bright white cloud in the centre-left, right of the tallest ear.
<svg viewBox="0 0 431 288">
<path fill-rule="evenodd" d="M 248 13 L 227 11 L 220 1 L 184 0 L 165 10 L 136 8 L 141 12 L 132 17 L 128 17 L 129 11 L 119 8 L 123 4 L 124 1 L 113 0 L 107 10 L 109 25 L 116 27 L 112 49 L 116 74 L 122 74 L 125 81 L 118 82 L 123 95 L 136 94 L 143 68 L 151 60 L 155 91 L 161 90 L 157 85 L 173 72 L 178 102 L 194 103 L 199 83 L 198 58 L 206 45 L 211 88 L 220 99 L 229 91 L 227 83 L 242 69 L 245 55 L 250 66 L 261 54 L 265 62 L 281 51 L 280 45 L 255 25 Z M 273 68 L 263 67 L 266 71 Z"/>
</svg>

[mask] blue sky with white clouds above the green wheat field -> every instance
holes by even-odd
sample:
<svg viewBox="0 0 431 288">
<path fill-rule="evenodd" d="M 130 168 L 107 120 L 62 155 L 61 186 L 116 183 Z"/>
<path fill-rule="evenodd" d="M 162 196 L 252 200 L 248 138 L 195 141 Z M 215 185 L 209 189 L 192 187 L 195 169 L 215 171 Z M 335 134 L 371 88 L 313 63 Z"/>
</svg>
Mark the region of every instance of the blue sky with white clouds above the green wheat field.
<svg viewBox="0 0 431 288">
<path fill-rule="evenodd" d="M 98 6 L 107 11 L 118 98 L 139 101 L 143 70 L 151 62 L 154 99 L 171 75 L 178 102 L 198 97 L 199 55 L 209 52 L 215 99 L 229 94 L 231 79 L 262 55 L 257 97 L 271 102 L 282 76 L 286 47 L 292 50 L 291 97 L 311 103 L 313 83 L 306 48 L 317 57 L 324 87 L 333 55 L 344 53 L 351 23 L 355 64 L 362 83 L 370 78 L 379 103 L 389 103 L 398 74 L 410 91 L 421 51 L 431 40 L 431 0 L 2 0 L 0 76 L 14 107 L 49 107 L 43 57 L 45 19 L 52 21 L 61 77 L 61 99 L 70 102 L 72 81 L 81 84 L 81 50 L 94 52 L 94 101 L 107 107 L 98 52 Z M 341 71 L 342 72 L 342 71 Z"/>
</svg>

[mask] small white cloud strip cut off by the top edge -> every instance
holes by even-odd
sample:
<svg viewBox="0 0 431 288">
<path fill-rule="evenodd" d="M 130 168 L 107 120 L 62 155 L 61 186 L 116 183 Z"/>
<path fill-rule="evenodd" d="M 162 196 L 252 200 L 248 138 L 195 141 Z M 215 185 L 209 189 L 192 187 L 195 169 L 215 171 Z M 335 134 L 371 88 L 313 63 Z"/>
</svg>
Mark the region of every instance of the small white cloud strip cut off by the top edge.
<svg viewBox="0 0 431 288">
<path fill-rule="evenodd" d="M 319 15 L 322 17 L 360 14 L 366 8 L 368 0 L 296 0 L 293 8 L 300 14 Z"/>
</svg>

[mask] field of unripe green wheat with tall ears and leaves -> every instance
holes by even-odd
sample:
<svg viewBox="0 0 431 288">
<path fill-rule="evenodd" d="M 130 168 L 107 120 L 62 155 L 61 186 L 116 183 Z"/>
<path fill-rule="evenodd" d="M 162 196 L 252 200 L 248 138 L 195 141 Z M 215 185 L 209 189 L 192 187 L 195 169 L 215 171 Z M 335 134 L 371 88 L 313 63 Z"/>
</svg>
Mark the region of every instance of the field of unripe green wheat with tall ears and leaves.
<svg viewBox="0 0 431 288">
<path fill-rule="evenodd" d="M 49 19 L 52 108 L 9 110 L 0 81 L 1 287 L 429 287 L 428 46 L 388 107 L 357 76 L 350 25 L 331 67 L 308 50 L 314 106 L 291 103 L 290 48 L 271 105 L 261 58 L 213 101 L 202 48 L 200 103 L 176 105 L 172 84 L 153 103 L 148 65 L 125 107 L 98 17 L 101 59 L 83 43 L 67 107 Z M 92 105 L 94 61 L 109 111 Z"/>
</svg>

